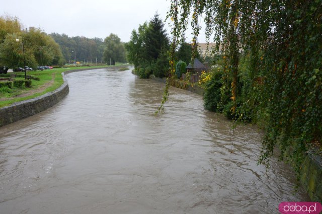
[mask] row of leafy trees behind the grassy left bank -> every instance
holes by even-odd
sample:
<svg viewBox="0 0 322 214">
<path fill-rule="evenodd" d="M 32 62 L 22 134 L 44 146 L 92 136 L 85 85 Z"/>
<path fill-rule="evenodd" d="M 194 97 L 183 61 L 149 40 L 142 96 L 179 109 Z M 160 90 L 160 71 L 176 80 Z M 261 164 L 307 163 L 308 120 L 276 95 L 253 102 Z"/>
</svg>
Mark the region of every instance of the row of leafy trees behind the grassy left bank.
<svg viewBox="0 0 322 214">
<path fill-rule="evenodd" d="M 126 62 L 124 43 L 116 34 L 111 33 L 103 40 L 46 34 L 37 28 L 22 30 L 17 17 L 10 16 L 0 17 L 0 29 L 0 73 L 24 67 L 24 55 L 26 66 L 33 68 L 76 61 L 83 64 Z"/>
</svg>

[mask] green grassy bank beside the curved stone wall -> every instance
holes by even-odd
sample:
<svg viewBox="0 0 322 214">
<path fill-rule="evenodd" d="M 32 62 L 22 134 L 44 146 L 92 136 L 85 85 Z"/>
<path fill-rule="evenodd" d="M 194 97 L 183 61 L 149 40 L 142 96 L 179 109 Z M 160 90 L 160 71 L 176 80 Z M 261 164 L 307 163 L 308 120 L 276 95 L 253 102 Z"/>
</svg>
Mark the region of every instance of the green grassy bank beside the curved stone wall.
<svg viewBox="0 0 322 214">
<path fill-rule="evenodd" d="M 114 65 L 103 65 L 97 66 L 97 68 L 111 67 Z M 32 80 L 31 88 L 16 88 L 13 87 L 11 90 L 0 91 L 0 108 L 9 106 L 13 103 L 32 99 L 48 92 L 54 91 L 63 84 L 63 78 L 61 73 L 67 70 L 94 68 L 96 66 L 77 66 L 68 68 L 54 68 L 48 70 L 35 70 L 27 72 L 27 75 L 38 77 L 39 81 Z M 24 75 L 24 72 L 15 72 L 16 75 Z M 24 78 L 15 78 L 16 80 L 23 80 Z"/>
</svg>

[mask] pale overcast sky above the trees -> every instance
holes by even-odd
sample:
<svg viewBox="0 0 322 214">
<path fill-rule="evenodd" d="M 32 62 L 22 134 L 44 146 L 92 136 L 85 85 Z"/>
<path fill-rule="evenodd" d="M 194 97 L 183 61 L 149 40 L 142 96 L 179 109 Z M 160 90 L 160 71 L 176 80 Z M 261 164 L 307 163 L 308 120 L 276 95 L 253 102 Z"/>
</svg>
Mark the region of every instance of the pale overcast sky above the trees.
<svg viewBox="0 0 322 214">
<path fill-rule="evenodd" d="M 46 33 L 99 37 L 117 34 L 123 42 L 155 12 L 165 20 L 170 0 L 1 0 L 0 16 L 17 16 L 23 26 Z M 168 24 L 166 24 L 168 28 Z M 188 39 L 190 32 L 186 35 Z M 204 42 L 202 35 L 199 42 Z"/>
</svg>

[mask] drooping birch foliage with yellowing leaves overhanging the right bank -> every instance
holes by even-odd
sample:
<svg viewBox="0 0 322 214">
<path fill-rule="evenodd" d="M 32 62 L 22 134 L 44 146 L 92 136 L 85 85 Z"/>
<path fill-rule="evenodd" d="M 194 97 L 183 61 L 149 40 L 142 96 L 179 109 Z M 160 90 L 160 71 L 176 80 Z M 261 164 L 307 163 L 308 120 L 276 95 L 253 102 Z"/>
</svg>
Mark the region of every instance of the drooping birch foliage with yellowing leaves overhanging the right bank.
<svg viewBox="0 0 322 214">
<path fill-rule="evenodd" d="M 189 18 L 192 58 L 203 19 L 207 40 L 216 44 L 214 66 L 200 83 L 205 107 L 264 127 L 259 163 L 268 165 L 278 147 L 299 178 L 305 153 L 322 138 L 321 17 L 320 1 L 172 0 L 170 78 Z M 166 87 L 164 101 L 168 94 Z"/>
</svg>

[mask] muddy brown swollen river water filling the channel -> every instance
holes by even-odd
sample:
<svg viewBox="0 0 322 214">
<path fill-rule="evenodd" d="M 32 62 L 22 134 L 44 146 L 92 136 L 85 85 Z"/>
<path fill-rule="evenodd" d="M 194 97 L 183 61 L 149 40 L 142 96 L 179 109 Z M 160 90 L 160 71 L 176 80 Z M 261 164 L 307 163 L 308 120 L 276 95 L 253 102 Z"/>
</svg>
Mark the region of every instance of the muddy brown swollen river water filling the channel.
<svg viewBox="0 0 322 214">
<path fill-rule="evenodd" d="M 257 160 L 263 133 L 232 131 L 202 97 L 129 70 L 66 76 L 54 107 L 0 128 L 0 213 L 279 213 L 294 193 L 289 166 Z"/>
</svg>

